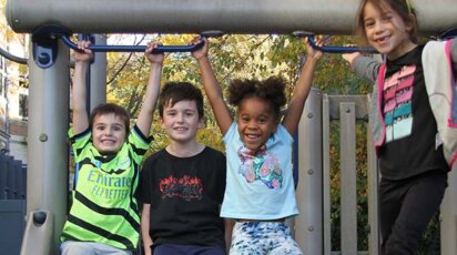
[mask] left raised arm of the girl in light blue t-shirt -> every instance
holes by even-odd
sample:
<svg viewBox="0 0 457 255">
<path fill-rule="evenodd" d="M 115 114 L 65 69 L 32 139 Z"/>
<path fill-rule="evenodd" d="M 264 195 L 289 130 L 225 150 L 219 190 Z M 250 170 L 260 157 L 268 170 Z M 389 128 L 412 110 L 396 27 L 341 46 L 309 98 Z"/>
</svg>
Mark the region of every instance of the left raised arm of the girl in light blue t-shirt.
<svg viewBox="0 0 457 255">
<path fill-rule="evenodd" d="M 233 119 L 230 114 L 227 105 L 225 104 L 222 94 L 222 88 L 214 76 L 213 68 L 211 67 L 210 60 L 207 59 L 209 42 L 206 39 L 202 40 L 204 41 L 204 45 L 202 47 L 202 49 L 192 52 L 192 55 L 199 62 L 206 96 L 210 101 L 211 108 L 213 109 L 214 116 L 216 118 L 216 122 L 219 128 L 221 129 L 222 135 L 225 135 L 233 122 Z M 194 41 L 193 43 L 196 42 L 197 41 Z"/>
</svg>

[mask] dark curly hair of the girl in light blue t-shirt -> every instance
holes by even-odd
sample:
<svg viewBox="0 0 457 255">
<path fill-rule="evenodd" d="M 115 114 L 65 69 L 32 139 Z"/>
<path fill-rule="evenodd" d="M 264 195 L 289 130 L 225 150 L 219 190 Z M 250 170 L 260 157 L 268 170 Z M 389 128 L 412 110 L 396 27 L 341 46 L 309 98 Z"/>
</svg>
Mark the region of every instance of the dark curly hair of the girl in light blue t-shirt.
<svg viewBox="0 0 457 255">
<path fill-rule="evenodd" d="M 228 86 L 227 101 L 235 108 L 240 108 L 245 99 L 263 99 L 272 106 L 276 118 L 281 115 L 281 108 L 286 104 L 284 89 L 286 82 L 281 76 L 271 76 L 266 80 L 233 80 Z"/>
</svg>

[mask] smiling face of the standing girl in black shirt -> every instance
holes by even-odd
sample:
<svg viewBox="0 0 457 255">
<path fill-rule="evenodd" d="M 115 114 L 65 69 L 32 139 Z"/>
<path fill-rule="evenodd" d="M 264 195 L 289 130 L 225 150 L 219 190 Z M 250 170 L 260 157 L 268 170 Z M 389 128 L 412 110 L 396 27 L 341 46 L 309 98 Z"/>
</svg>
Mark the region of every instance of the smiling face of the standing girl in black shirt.
<svg viewBox="0 0 457 255">
<path fill-rule="evenodd" d="M 388 59 L 395 60 L 415 47 L 408 33 L 413 29 L 412 24 L 406 24 L 389 6 L 379 9 L 368 1 L 363 17 L 368 43 Z"/>
</svg>

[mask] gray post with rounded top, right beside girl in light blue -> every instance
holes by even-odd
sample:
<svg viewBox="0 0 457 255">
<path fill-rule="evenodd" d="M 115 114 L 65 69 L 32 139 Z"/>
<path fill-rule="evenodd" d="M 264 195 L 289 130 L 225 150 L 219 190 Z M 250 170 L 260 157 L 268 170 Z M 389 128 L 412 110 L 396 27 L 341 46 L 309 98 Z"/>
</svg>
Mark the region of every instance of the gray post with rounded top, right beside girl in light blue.
<svg viewBox="0 0 457 255">
<path fill-rule="evenodd" d="M 295 238 L 304 254 L 323 254 L 322 187 L 322 93 L 312 89 L 298 129 L 299 215 L 295 218 Z"/>
</svg>

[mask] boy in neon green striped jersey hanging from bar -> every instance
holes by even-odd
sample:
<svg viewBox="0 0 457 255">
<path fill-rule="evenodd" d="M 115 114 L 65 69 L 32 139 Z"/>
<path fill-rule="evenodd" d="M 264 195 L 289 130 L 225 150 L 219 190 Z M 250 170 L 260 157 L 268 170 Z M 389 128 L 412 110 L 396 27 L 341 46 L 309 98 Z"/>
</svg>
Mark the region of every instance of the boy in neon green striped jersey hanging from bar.
<svg viewBox="0 0 457 255">
<path fill-rule="evenodd" d="M 88 119 L 85 73 L 92 58 L 88 41 L 74 52 L 73 128 L 69 131 L 75 161 L 72 206 L 61 235 L 62 254 L 132 254 L 139 243 L 139 204 L 134 193 L 140 163 L 150 146 L 152 114 L 159 96 L 164 55 L 152 54 L 151 74 L 136 125 L 115 104 L 95 108 Z"/>
</svg>

